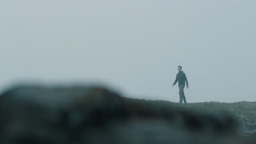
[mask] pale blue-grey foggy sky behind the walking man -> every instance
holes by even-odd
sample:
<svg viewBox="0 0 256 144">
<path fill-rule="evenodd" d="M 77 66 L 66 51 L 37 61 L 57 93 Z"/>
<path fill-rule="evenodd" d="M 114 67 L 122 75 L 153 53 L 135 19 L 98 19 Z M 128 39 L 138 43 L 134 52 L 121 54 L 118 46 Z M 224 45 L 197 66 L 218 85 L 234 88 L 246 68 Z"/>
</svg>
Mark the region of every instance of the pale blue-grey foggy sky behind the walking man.
<svg viewBox="0 0 256 144">
<path fill-rule="evenodd" d="M 0 89 L 100 82 L 127 97 L 256 101 L 256 1 L 1 1 Z"/>
</svg>

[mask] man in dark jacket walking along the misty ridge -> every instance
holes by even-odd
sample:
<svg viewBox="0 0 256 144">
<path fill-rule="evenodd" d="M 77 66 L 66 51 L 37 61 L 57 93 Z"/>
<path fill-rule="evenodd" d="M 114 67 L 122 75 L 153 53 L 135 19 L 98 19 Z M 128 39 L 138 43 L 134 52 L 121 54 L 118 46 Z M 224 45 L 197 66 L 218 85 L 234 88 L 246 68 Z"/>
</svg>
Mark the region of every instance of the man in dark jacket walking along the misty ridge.
<svg viewBox="0 0 256 144">
<path fill-rule="evenodd" d="M 187 100 L 186 100 L 185 94 L 184 94 L 185 82 L 187 83 L 187 88 L 188 88 L 187 76 L 185 75 L 185 73 L 183 73 L 181 65 L 178 66 L 178 71 L 179 71 L 179 73 L 176 75 L 176 80 L 174 81 L 172 87 L 174 85 L 176 85 L 176 83 L 178 81 L 178 83 L 179 83 L 179 103 L 182 103 L 182 100 L 184 101 L 184 103 L 187 103 Z"/>
</svg>

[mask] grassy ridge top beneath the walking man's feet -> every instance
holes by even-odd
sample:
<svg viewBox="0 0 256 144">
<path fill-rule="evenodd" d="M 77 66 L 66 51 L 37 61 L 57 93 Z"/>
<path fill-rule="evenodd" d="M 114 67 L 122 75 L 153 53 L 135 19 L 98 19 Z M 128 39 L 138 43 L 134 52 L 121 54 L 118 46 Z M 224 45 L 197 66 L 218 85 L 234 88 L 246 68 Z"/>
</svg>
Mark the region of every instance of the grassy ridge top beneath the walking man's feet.
<svg viewBox="0 0 256 144">
<path fill-rule="evenodd" d="M 153 101 L 152 101 L 153 102 Z M 170 101 L 156 100 L 153 103 L 161 105 L 175 105 L 180 109 L 196 112 L 211 112 L 214 114 L 228 113 L 238 123 L 242 135 L 256 137 L 256 102 L 241 101 L 236 103 L 203 102 L 179 104 Z"/>
</svg>

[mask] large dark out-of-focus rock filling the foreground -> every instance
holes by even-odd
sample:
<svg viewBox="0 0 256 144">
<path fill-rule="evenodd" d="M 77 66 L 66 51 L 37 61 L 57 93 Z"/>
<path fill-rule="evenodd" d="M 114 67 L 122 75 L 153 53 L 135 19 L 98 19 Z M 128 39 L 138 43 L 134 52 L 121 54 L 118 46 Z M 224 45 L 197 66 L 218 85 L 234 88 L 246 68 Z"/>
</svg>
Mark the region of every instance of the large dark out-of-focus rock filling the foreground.
<svg viewBox="0 0 256 144">
<path fill-rule="evenodd" d="M 16 87 L 1 95 L 0 116 L 0 143 L 253 143 L 230 115 L 102 87 Z"/>
</svg>

